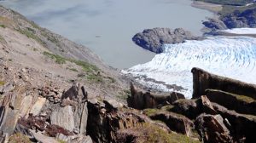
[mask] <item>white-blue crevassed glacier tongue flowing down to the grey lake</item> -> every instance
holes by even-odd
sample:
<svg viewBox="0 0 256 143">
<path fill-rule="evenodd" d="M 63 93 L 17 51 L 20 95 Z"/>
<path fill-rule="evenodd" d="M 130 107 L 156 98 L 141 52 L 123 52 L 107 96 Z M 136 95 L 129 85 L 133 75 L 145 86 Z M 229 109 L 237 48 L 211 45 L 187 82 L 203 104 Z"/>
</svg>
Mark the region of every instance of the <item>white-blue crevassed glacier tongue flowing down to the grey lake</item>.
<svg viewBox="0 0 256 143">
<path fill-rule="evenodd" d="M 256 83 L 256 38 L 253 37 L 207 37 L 202 41 L 166 44 L 164 52 L 141 65 L 123 70 L 136 77 L 139 83 L 160 91 L 178 91 L 191 98 L 193 78 L 190 72 L 199 67 L 224 77 L 247 83 Z M 149 79 L 154 79 L 154 82 Z M 168 88 L 166 84 L 182 86 Z"/>
</svg>

